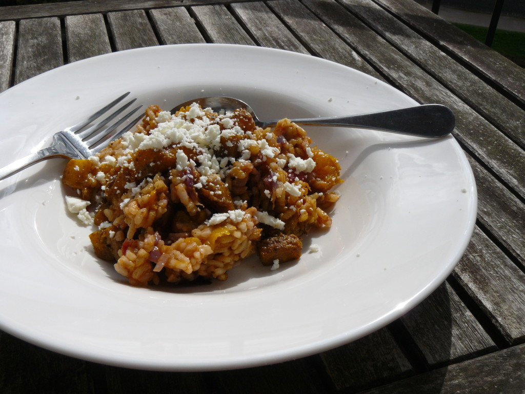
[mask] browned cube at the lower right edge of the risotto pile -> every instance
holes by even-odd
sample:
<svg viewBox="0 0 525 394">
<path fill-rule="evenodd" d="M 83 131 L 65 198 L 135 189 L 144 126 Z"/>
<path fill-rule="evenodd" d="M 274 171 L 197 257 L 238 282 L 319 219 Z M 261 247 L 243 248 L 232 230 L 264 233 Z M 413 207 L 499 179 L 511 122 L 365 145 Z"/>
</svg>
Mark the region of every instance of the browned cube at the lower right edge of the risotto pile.
<svg viewBox="0 0 525 394">
<path fill-rule="evenodd" d="M 301 257 L 302 241 L 297 235 L 280 234 L 260 241 L 257 254 L 263 265 L 272 265 L 274 260 L 283 263 Z"/>
</svg>

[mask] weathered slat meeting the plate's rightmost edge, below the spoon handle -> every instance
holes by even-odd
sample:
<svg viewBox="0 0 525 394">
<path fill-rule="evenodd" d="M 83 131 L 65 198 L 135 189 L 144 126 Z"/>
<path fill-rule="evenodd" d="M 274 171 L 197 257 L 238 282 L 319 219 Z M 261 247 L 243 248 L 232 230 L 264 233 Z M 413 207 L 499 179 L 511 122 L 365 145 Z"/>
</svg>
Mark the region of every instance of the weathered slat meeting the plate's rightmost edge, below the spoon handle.
<svg viewBox="0 0 525 394">
<path fill-rule="evenodd" d="M 478 190 L 478 219 L 525 269 L 525 204 L 468 157 Z M 525 313 L 525 312 L 524 312 Z"/>
</svg>

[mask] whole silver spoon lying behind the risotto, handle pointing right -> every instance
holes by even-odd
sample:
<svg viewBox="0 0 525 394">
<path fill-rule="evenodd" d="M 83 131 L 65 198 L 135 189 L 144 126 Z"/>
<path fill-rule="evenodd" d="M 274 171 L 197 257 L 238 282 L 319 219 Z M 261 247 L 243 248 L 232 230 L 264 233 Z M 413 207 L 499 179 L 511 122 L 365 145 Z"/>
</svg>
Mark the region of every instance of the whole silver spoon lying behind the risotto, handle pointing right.
<svg viewBox="0 0 525 394">
<path fill-rule="evenodd" d="M 196 102 L 202 108 L 212 108 L 214 112 L 221 109 L 234 111 L 244 108 L 254 118 L 255 124 L 261 128 L 276 125 L 278 120 L 261 121 L 255 112 L 244 101 L 232 97 L 202 97 L 186 101 L 171 110 L 172 113 Z M 360 115 L 336 116 L 329 118 L 290 119 L 300 126 L 338 126 L 355 127 L 390 131 L 409 136 L 438 138 L 450 134 L 454 130 L 454 113 L 440 104 L 426 104 L 415 107 L 393 109 L 381 112 L 362 113 Z"/>
</svg>

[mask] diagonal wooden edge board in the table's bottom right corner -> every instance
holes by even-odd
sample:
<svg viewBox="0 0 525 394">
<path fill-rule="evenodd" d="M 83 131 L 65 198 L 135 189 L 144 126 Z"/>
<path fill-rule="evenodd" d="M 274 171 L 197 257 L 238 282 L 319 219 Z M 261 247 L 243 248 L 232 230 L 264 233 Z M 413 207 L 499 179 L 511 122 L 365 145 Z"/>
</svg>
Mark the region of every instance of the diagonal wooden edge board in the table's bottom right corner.
<svg viewBox="0 0 525 394">
<path fill-rule="evenodd" d="M 521 394 L 525 345 L 436 369 L 360 394 Z"/>
</svg>

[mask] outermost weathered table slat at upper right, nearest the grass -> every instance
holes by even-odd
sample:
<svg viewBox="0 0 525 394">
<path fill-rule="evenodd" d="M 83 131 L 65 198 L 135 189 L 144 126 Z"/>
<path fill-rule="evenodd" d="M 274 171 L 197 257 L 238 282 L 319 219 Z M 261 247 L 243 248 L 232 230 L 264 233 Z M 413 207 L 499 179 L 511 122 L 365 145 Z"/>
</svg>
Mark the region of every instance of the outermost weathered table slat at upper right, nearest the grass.
<svg viewBox="0 0 525 394">
<path fill-rule="evenodd" d="M 525 103 L 525 70 L 425 7 L 405 0 L 374 0 L 431 42 L 466 61 L 481 75 Z"/>
</svg>

